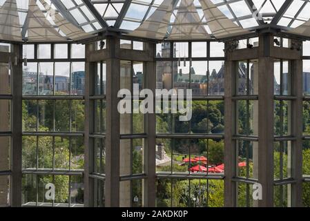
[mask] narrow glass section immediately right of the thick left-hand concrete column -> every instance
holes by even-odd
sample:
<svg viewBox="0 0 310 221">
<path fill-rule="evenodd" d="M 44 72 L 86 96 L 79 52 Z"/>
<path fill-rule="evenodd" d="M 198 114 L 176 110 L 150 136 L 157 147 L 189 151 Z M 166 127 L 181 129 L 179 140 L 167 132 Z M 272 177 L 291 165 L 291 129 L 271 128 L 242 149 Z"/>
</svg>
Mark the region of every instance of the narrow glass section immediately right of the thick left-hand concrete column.
<svg viewBox="0 0 310 221">
<path fill-rule="evenodd" d="M 146 115 L 142 113 L 142 106 L 146 97 L 139 96 L 139 92 L 144 89 L 146 73 L 144 63 L 137 61 L 120 61 L 120 70 L 120 88 L 127 89 L 131 96 L 122 99 L 124 106 L 130 106 L 130 113 L 120 114 L 119 206 L 141 207 L 144 205 L 142 177 L 146 142 Z"/>
</svg>

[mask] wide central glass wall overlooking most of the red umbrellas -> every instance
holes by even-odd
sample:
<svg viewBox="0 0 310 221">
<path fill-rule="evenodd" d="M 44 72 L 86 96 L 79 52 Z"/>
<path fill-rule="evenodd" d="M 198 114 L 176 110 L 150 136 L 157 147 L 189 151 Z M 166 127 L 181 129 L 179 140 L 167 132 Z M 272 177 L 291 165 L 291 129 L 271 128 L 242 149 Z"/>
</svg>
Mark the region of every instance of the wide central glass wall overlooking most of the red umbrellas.
<svg viewBox="0 0 310 221">
<path fill-rule="evenodd" d="M 224 44 L 156 48 L 157 89 L 172 89 L 156 116 L 156 205 L 224 206 Z M 186 89 L 192 90 L 192 115 L 181 121 L 171 99 Z"/>
</svg>

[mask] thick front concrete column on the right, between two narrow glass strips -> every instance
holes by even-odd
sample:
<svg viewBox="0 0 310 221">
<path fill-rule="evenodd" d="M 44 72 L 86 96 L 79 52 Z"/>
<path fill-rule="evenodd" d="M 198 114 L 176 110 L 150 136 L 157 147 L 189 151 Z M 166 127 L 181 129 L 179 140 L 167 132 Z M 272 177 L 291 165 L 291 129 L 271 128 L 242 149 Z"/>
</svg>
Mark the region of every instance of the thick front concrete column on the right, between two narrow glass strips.
<svg viewBox="0 0 310 221">
<path fill-rule="evenodd" d="M 272 35 L 260 35 L 258 59 L 258 182 L 262 200 L 258 206 L 273 206 L 273 47 Z"/>
</svg>

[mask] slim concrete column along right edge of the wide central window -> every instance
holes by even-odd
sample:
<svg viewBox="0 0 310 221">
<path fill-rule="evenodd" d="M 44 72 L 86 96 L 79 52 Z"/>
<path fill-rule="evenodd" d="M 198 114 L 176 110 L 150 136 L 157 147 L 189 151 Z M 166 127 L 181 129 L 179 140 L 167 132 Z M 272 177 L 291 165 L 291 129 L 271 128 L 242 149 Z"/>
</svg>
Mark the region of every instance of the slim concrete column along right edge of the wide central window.
<svg viewBox="0 0 310 221">
<path fill-rule="evenodd" d="M 227 48 L 227 43 L 226 46 Z M 235 206 L 235 183 L 232 181 L 235 176 L 235 106 L 232 97 L 235 95 L 235 62 L 231 60 L 231 55 L 226 52 L 225 59 L 225 95 L 224 95 L 224 206 Z"/>
</svg>

